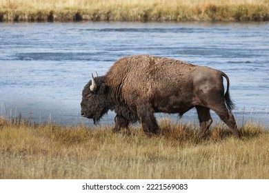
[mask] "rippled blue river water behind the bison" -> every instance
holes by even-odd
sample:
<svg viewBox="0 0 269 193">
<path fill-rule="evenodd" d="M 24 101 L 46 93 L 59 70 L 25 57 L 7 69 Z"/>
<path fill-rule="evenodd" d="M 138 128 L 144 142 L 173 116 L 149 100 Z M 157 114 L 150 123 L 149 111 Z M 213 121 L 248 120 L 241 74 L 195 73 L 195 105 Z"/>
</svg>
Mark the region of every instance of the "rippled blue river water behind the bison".
<svg viewBox="0 0 269 193">
<path fill-rule="evenodd" d="M 239 125 L 269 128 L 269 23 L 0 23 L 0 115 L 92 123 L 80 116 L 83 86 L 131 54 L 226 72 Z M 196 120 L 195 110 L 182 119 Z M 101 122 L 113 123 L 114 113 Z"/>
</svg>

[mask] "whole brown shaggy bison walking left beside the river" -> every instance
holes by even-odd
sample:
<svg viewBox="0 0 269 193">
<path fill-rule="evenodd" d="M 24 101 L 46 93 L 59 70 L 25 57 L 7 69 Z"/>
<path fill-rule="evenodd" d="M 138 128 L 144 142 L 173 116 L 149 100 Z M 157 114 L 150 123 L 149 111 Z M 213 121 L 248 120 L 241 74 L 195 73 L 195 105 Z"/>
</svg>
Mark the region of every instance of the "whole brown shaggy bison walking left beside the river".
<svg viewBox="0 0 269 193">
<path fill-rule="evenodd" d="M 223 77 L 227 81 L 225 93 Z M 103 114 L 114 110 L 114 132 L 141 121 L 144 132 L 157 134 L 155 112 L 182 116 L 195 107 L 200 122 L 197 136 L 206 134 L 213 110 L 239 138 L 229 86 L 226 74 L 205 66 L 149 55 L 124 57 L 106 75 L 92 76 L 83 88 L 81 115 L 98 123 Z"/>
</svg>

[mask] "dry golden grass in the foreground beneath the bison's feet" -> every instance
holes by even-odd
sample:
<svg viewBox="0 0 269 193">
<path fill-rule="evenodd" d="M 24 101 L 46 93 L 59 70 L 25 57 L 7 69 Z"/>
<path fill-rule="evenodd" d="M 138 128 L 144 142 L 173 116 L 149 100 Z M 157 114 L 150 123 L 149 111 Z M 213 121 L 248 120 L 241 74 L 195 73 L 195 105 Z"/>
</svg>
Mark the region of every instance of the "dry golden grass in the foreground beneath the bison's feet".
<svg viewBox="0 0 269 193">
<path fill-rule="evenodd" d="M 223 125 L 205 139 L 197 128 L 160 121 L 112 134 L 86 128 L 0 119 L 0 179 L 269 179 L 269 132 L 246 124 L 236 140 Z"/>
</svg>

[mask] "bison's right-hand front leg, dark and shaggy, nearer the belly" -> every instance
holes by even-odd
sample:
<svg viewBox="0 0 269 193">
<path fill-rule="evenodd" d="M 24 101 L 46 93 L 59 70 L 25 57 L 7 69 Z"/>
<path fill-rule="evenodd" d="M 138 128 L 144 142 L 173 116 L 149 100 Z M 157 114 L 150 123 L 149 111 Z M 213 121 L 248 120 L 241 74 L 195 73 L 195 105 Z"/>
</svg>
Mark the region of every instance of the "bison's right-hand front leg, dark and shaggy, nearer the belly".
<svg viewBox="0 0 269 193">
<path fill-rule="evenodd" d="M 147 134 L 158 134 L 159 127 L 154 116 L 154 110 L 148 105 L 139 105 L 137 114 L 142 124 L 143 131 Z"/>
</svg>

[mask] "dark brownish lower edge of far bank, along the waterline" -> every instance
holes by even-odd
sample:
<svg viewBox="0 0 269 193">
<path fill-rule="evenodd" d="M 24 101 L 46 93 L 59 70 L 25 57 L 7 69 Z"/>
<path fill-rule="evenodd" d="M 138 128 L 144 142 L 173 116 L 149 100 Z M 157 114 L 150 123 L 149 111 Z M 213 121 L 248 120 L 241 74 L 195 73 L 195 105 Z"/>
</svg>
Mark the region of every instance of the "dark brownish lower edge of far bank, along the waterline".
<svg viewBox="0 0 269 193">
<path fill-rule="evenodd" d="M 27 14 L 23 12 L 0 12 L 0 23 L 10 23 L 10 22 L 81 22 L 81 21 L 119 21 L 119 22 L 266 22 L 269 21 L 269 14 L 265 15 L 252 15 L 252 16 L 233 16 L 230 18 L 222 17 L 210 17 L 207 14 L 203 17 L 177 17 L 172 18 L 172 16 L 157 17 L 152 15 L 152 17 L 147 17 L 146 12 L 139 17 L 128 17 L 128 18 L 114 18 L 108 16 L 108 13 L 101 14 L 90 14 L 81 12 L 38 12 L 37 14 Z"/>
</svg>

